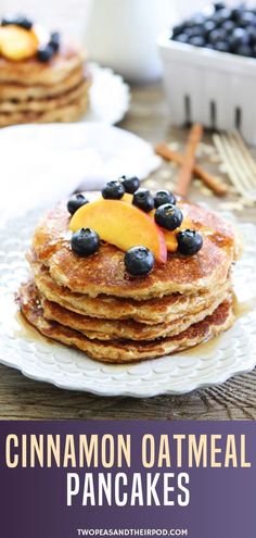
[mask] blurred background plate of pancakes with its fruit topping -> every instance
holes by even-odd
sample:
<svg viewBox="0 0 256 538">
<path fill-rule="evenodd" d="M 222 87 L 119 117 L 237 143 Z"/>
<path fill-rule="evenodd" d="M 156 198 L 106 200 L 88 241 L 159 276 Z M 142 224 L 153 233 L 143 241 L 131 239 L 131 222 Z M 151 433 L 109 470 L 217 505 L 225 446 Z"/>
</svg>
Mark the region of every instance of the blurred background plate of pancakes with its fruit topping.
<svg viewBox="0 0 256 538">
<path fill-rule="evenodd" d="M 119 122 L 129 88 L 89 63 L 85 51 L 24 15 L 0 22 L 0 127 L 27 123 Z"/>
</svg>

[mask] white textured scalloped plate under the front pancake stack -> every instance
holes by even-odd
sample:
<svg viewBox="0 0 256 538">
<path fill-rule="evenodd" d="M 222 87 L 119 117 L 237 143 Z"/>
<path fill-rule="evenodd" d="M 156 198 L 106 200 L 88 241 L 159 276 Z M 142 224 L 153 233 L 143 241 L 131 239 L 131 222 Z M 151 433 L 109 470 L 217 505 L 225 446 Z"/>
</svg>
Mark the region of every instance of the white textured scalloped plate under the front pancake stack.
<svg viewBox="0 0 256 538">
<path fill-rule="evenodd" d="M 27 277 L 24 260 L 38 212 L 0 230 L 0 362 L 24 375 L 71 390 L 101 396 L 180 395 L 223 383 L 256 365 L 256 227 L 241 225 L 245 251 L 234 270 L 234 289 L 244 313 L 214 345 L 132 365 L 107 365 L 85 353 L 27 335 L 15 317 L 13 296 Z M 247 306 L 252 306 L 247 309 Z"/>
</svg>

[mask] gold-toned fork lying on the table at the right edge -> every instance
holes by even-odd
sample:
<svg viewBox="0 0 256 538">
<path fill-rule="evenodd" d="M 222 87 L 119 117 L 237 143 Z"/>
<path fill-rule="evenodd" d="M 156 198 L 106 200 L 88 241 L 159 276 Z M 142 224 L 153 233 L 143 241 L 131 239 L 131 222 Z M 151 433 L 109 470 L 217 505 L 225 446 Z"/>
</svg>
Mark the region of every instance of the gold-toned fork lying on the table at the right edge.
<svg viewBox="0 0 256 538">
<path fill-rule="evenodd" d="M 238 192 L 256 202 L 256 163 L 239 132 L 215 134 L 213 139 Z"/>
</svg>

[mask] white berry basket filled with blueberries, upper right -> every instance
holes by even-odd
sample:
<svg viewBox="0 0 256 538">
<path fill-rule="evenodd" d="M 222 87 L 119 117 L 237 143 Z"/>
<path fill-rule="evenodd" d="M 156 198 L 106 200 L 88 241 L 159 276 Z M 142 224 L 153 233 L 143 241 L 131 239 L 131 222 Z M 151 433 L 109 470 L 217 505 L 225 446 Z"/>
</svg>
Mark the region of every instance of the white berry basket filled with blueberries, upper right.
<svg viewBox="0 0 256 538">
<path fill-rule="evenodd" d="M 159 36 L 171 121 L 256 145 L 256 7 L 216 2 Z"/>
</svg>

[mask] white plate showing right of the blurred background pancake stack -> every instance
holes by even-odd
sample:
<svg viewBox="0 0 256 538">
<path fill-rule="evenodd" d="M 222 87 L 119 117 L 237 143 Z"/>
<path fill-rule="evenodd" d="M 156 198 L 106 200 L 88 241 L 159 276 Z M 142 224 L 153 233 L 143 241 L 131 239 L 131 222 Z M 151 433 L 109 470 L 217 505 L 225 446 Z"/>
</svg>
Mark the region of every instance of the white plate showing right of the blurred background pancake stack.
<svg viewBox="0 0 256 538">
<path fill-rule="evenodd" d="M 120 75 L 97 63 L 89 63 L 92 75 L 90 108 L 84 122 L 104 122 L 114 125 L 123 120 L 130 104 L 129 86 Z"/>
</svg>

